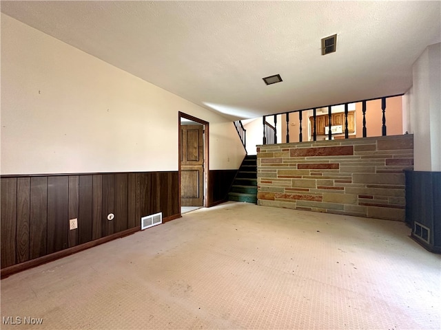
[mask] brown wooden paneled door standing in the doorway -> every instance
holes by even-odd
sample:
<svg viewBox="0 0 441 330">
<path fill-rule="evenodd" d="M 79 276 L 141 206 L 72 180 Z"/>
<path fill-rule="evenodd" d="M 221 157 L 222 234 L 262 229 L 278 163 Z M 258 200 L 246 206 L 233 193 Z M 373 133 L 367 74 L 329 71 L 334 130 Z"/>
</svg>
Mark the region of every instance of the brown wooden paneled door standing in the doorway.
<svg viewBox="0 0 441 330">
<path fill-rule="evenodd" d="M 203 206 L 203 125 L 181 125 L 181 206 Z"/>
</svg>

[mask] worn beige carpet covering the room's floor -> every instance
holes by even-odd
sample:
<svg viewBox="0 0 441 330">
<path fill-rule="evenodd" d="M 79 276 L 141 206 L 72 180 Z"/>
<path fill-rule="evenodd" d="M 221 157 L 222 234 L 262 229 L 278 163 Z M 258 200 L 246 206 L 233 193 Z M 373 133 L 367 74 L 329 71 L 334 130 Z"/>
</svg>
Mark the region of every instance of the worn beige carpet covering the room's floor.
<svg viewBox="0 0 441 330">
<path fill-rule="evenodd" d="M 409 233 L 224 203 L 2 280 L 1 329 L 440 329 L 441 256 Z"/>
</svg>

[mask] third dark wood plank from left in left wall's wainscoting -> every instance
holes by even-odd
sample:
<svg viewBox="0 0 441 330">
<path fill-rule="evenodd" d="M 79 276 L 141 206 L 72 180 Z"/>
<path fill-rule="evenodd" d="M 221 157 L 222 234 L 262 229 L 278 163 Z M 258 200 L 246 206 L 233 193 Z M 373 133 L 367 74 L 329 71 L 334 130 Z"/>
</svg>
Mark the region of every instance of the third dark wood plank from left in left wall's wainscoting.
<svg viewBox="0 0 441 330">
<path fill-rule="evenodd" d="M 3 184 L 3 181 L 1 181 Z M 30 259 L 47 254 L 48 177 L 30 178 Z M 2 244 L 3 247 L 3 244 Z"/>
</svg>

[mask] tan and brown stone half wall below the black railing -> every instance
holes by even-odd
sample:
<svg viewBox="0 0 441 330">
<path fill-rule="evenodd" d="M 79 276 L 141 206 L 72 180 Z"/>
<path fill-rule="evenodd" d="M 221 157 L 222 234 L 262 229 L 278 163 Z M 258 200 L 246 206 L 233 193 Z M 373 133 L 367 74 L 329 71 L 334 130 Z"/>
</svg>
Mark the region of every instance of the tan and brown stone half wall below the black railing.
<svg viewBox="0 0 441 330">
<path fill-rule="evenodd" d="M 404 221 L 413 135 L 261 145 L 258 205 Z"/>
</svg>

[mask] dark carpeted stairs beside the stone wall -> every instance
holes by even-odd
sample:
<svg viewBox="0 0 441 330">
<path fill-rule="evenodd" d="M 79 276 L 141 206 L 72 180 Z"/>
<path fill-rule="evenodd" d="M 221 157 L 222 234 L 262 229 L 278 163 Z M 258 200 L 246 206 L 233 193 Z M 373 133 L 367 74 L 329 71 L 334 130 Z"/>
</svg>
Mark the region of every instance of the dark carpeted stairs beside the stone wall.
<svg viewBox="0 0 441 330">
<path fill-rule="evenodd" d="M 257 203 L 257 156 L 247 155 L 228 192 L 229 201 Z"/>
</svg>

